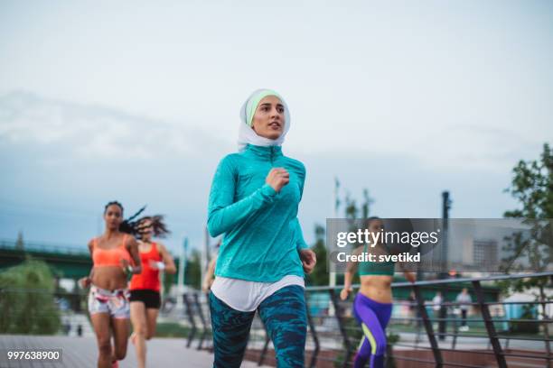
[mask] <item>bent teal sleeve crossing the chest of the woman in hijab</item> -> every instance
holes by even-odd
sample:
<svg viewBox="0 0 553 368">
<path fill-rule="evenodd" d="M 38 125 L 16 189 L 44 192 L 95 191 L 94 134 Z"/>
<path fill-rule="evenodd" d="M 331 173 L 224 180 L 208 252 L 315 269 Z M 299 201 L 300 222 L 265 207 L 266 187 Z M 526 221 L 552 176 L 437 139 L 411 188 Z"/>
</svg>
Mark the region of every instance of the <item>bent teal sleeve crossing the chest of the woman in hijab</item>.
<svg viewBox="0 0 553 368">
<path fill-rule="evenodd" d="M 242 224 L 249 216 L 272 203 L 277 191 L 268 184 L 246 198 L 234 202 L 237 174 L 229 157 L 220 161 L 211 183 L 208 209 L 208 231 L 211 236 L 227 233 Z"/>
</svg>

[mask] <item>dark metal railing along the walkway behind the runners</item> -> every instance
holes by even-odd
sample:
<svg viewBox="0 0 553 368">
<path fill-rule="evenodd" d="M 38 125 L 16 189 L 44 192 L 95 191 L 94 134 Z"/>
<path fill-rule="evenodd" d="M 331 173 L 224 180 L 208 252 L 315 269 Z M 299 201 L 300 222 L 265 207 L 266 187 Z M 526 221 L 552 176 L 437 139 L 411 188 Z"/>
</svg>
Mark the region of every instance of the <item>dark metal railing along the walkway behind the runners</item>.
<svg viewBox="0 0 553 368">
<path fill-rule="evenodd" d="M 551 367 L 549 330 L 553 319 L 545 315 L 549 300 L 500 301 L 486 300 L 483 283 L 494 281 L 551 278 L 553 272 L 525 275 L 500 275 L 481 278 L 458 278 L 436 281 L 395 282 L 392 290 L 408 288 L 414 293 L 414 300 L 396 299 L 388 332 L 387 366 L 397 367 Z M 466 320 L 467 328 L 460 328 L 463 318 L 457 313 L 459 303 L 447 301 L 435 306 L 423 297 L 428 289 L 469 286 L 473 302 L 470 316 Z M 358 289 L 359 285 L 354 286 Z M 307 343 L 305 366 L 307 367 L 349 367 L 362 336 L 351 313 L 352 298 L 342 301 L 340 288 L 308 287 L 305 289 L 307 304 Z M 184 295 L 186 318 L 190 334 L 187 346 L 211 349 L 211 319 L 207 296 L 201 293 Z M 541 308 L 532 317 L 510 317 L 510 306 L 524 306 L 527 309 Z M 433 307 L 444 308 L 443 315 L 436 313 Z M 550 312 L 549 312 L 550 313 Z M 442 326 L 440 326 L 440 324 Z M 443 331 L 436 331 L 442 327 Z M 514 327 L 525 327 L 527 332 L 517 331 Z M 246 359 L 276 366 L 275 354 L 269 338 L 258 317 L 252 326 Z"/>
</svg>

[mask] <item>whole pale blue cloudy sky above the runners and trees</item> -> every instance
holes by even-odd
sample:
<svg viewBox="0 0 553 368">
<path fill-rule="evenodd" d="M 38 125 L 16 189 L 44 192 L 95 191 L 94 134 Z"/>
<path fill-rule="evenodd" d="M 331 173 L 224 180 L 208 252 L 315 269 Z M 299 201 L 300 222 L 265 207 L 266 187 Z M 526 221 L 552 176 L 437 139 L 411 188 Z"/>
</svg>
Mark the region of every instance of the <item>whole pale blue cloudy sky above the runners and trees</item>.
<svg viewBox="0 0 553 368">
<path fill-rule="evenodd" d="M 548 1 L 3 1 L 0 238 L 84 249 L 105 203 L 203 243 L 239 107 L 276 89 L 308 242 L 333 183 L 382 217 L 501 217 L 553 137 Z"/>
</svg>

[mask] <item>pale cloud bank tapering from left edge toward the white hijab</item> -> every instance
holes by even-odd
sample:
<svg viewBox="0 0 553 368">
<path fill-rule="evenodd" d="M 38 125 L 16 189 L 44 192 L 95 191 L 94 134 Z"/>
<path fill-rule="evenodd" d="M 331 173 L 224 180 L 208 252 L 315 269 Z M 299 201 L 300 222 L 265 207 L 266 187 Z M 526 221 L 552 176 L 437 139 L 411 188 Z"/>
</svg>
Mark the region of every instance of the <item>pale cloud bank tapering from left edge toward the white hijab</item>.
<svg viewBox="0 0 553 368">
<path fill-rule="evenodd" d="M 0 140 L 34 145 L 50 154 L 42 161 L 154 160 L 197 156 L 216 138 L 184 124 L 128 115 L 29 92 L 0 97 Z M 59 152 L 52 157 L 53 152 Z"/>
</svg>

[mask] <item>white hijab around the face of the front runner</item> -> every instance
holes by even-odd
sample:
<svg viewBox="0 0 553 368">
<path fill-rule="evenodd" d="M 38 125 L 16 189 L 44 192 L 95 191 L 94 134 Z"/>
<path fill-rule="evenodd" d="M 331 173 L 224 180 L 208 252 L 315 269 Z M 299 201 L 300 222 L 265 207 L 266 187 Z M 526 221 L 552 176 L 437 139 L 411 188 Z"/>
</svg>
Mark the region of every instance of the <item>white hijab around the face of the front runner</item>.
<svg viewBox="0 0 553 368">
<path fill-rule="evenodd" d="M 282 102 L 282 105 L 285 106 L 284 130 L 277 139 L 268 139 L 265 137 L 261 137 L 251 128 L 253 115 L 256 113 L 259 101 L 267 96 L 277 97 L 278 99 L 280 99 L 280 102 Z M 242 107 L 240 108 L 240 127 L 238 140 L 239 152 L 244 151 L 248 143 L 263 147 L 282 145 L 282 143 L 284 143 L 286 133 L 288 133 L 288 129 L 290 129 L 290 112 L 288 111 L 288 106 L 286 105 L 286 101 L 284 100 L 284 98 L 280 97 L 277 92 L 271 89 L 258 89 L 248 97 L 244 105 L 242 105 Z"/>
</svg>

